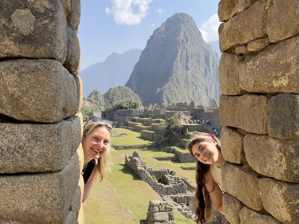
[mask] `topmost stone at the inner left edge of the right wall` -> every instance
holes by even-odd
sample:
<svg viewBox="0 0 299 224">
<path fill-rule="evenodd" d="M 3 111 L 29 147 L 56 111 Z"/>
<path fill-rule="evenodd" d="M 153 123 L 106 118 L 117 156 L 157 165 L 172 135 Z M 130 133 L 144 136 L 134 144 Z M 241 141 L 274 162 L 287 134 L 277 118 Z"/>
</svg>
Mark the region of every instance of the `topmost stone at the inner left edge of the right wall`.
<svg viewBox="0 0 299 224">
<path fill-rule="evenodd" d="M 228 21 L 256 1 L 257 0 L 221 0 L 218 4 L 219 21 Z"/>
</svg>

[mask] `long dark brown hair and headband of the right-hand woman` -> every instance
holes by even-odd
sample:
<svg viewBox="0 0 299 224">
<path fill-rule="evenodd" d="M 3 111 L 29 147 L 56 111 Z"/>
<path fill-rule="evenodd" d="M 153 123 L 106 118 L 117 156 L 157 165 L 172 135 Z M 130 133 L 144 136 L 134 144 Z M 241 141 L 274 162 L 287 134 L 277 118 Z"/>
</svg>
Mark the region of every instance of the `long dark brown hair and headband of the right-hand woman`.
<svg viewBox="0 0 299 224">
<path fill-rule="evenodd" d="M 213 137 L 213 138 L 217 142 L 216 147 L 221 152 L 220 140 L 216 137 Z M 213 141 L 210 139 L 204 139 L 204 138 L 194 139 L 193 141 L 190 141 L 190 143 L 188 145 L 188 149 L 193 157 L 194 157 L 194 155 L 192 154 L 192 146 L 198 142 L 213 142 Z M 196 223 L 201 223 L 201 224 L 207 223 L 207 221 L 209 221 L 211 219 L 211 217 L 213 216 L 212 200 L 210 198 L 209 193 L 214 191 L 216 183 L 214 182 L 213 190 L 208 191 L 205 184 L 207 183 L 206 173 L 208 172 L 209 169 L 210 169 L 209 165 L 197 161 L 197 166 L 196 166 L 197 188 L 196 188 L 196 192 L 195 192 L 195 201 L 197 204 L 197 208 L 196 208 L 195 214 L 196 214 Z"/>
</svg>

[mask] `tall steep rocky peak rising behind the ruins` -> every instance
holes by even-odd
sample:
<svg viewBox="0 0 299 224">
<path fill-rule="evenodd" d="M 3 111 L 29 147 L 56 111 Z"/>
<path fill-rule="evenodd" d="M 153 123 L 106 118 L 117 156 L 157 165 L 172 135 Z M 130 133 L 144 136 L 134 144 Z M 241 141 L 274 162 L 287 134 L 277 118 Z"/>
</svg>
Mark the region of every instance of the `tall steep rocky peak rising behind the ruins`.
<svg viewBox="0 0 299 224">
<path fill-rule="evenodd" d="M 218 66 L 219 57 L 193 18 L 176 13 L 150 36 L 126 86 L 143 105 L 192 100 L 209 105 L 220 96 Z"/>
</svg>

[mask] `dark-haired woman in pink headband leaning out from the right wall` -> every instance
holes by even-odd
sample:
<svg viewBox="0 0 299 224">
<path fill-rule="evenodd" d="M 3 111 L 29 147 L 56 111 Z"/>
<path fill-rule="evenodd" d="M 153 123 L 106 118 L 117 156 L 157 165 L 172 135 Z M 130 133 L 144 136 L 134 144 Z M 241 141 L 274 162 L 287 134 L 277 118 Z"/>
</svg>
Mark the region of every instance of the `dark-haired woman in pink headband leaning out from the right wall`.
<svg viewBox="0 0 299 224">
<path fill-rule="evenodd" d="M 220 140 L 212 134 L 194 131 L 186 144 L 186 149 L 196 158 L 196 222 L 206 223 L 212 217 L 213 201 L 217 210 L 224 215 L 222 206 Z M 221 188 L 220 188 L 220 187 Z M 204 189 L 204 193 L 203 193 Z"/>
</svg>

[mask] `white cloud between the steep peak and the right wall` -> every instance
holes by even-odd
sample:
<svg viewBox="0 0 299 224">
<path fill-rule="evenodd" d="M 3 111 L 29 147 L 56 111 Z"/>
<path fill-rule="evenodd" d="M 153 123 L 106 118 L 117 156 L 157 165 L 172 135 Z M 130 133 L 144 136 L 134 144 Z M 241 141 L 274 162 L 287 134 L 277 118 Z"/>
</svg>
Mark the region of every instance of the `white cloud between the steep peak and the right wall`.
<svg viewBox="0 0 299 224">
<path fill-rule="evenodd" d="M 219 22 L 218 14 L 214 14 L 208 21 L 205 21 L 202 24 L 199 30 L 202 33 L 202 38 L 205 42 L 216 41 L 219 39 L 218 27 L 220 24 L 221 22 Z"/>
</svg>

